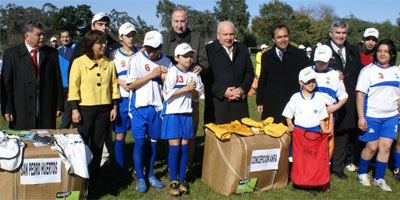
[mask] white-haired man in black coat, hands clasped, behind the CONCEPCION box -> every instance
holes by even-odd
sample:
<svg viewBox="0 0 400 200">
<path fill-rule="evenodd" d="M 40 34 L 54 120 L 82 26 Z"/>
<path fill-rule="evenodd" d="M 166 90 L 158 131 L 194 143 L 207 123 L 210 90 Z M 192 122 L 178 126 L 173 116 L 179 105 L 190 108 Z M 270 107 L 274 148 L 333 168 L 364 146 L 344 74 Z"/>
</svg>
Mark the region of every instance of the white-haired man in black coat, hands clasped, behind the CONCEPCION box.
<svg viewBox="0 0 400 200">
<path fill-rule="evenodd" d="M 235 42 L 234 29 L 232 22 L 220 22 L 218 40 L 206 46 L 209 69 L 204 123 L 224 124 L 249 117 L 246 94 L 254 70 L 247 47 Z"/>
</svg>

